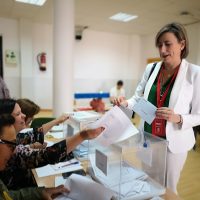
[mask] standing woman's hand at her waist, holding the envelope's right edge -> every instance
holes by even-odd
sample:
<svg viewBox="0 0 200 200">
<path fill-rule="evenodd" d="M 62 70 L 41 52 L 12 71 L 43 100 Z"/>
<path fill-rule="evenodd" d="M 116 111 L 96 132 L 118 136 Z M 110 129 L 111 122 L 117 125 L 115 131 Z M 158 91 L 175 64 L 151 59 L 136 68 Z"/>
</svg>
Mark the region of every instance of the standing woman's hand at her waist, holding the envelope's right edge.
<svg viewBox="0 0 200 200">
<path fill-rule="evenodd" d="M 165 119 L 172 123 L 179 123 L 180 115 L 175 114 L 174 110 L 168 107 L 157 108 L 156 117 L 159 119 Z"/>
</svg>

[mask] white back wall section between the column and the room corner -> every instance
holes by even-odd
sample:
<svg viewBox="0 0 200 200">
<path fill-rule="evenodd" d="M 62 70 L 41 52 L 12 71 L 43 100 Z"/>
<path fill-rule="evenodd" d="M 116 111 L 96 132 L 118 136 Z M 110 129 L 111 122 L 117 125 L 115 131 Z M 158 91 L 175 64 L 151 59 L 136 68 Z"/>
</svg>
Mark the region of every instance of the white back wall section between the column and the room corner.
<svg viewBox="0 0 200 200">
<path fill-rule="evenodd" d="M 75 91 L 109 92 L 122 79 L 130 96 L 140 67 L 139 48 L 139 36 L 86 30 L 75 42 Z"/>
</svg>

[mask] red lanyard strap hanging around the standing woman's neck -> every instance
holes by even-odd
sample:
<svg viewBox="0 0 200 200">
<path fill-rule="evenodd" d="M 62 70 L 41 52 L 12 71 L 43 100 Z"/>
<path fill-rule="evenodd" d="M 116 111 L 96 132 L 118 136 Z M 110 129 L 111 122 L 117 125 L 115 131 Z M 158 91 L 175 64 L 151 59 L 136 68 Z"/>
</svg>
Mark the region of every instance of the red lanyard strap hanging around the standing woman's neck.
<svg viewBox="0 0 200 200">
<path fill-rule="evenodd" d="M 163 95 L 161 96 L 161 86 L 160 86 L 161 83 L 160 83 L 160 82 L 161 82 L 162 70 L 163 70 L 163 68 L 164 68 L 164 66 L 162 66 L 162 69 L 160 70 L 160 74 L 159 74 L 159 76 L 158 76 L 158 82 L 157 82 L 157 87 L 156 87 L 157 107 L 158 107 L 158 108 L 159 108 L 159 107 L 162 107 L 162 106 L 164 105 L 164 102 L 165 102 L 165 100 L 166 100 L 166 98 L 167 98 L 167 94 L 168 94 L 168 92 L 169 92 L 169 88 L 170 88 L 170 86 L 172 85 L 173 81 L 175 80 L 175 78 L 176 78 L 176 76 L 177 76 L 177 74 L 178 74 L 179 67 L 180 67 L 180 65 L 177 67 L 176 71 L 175 71 L 174 74 L 173 74 L 173 77 L 172 77 L 170 83 L 168 84 L 168 86 L 167 86 L 165 92 L 163 93 Z"/>
</svg>

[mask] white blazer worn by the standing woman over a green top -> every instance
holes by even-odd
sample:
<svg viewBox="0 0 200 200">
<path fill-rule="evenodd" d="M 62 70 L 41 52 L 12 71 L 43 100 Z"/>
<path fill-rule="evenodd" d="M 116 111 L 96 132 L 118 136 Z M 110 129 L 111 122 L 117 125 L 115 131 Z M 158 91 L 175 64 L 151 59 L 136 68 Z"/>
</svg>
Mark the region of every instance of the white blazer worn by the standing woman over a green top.
<svg viewBox="0 0 200 200">
<path fill-rule="evenodd" d="M 134 96 L 128 100 L 130 109 L 133 108 L 139 98 L 148 98 L 162 62 L 157 63 L 149 78 L 152 65 L 147 65 Z M 192 127 L 200 125 L 199 87 L 200 66 L 188 63 L 183 59 L 169 99 L 169 108 L 172 108 L 176 114 L 182 115 L 183 123 L 182 125 L 168 121 L 166 123 L 166 139 L 169 142 L 168 148 L 172 153 L 186 152 L 195 144 Z M 141 127 L 144 127 L 144 121 L 141 122 Z"/>
</svg>

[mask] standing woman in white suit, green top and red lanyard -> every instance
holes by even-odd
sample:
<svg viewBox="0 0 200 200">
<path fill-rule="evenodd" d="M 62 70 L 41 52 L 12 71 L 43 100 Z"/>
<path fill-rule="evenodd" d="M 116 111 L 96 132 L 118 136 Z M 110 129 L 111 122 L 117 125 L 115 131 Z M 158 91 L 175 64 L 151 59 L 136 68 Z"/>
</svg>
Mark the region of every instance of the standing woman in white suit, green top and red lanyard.
<svg viewBox="0 0 200 200">
<path fill-rule="evenodd" d="M 181 24 L 161 28 L 155 44 L 162 61 L 147 65 L 134 96 L 129 100 L 118 98 L 115 104 L 132 109 L 144 97 L 158 107 L 153 123 L 142 121 L 141 127 L 168 141 L 166 187 L 177 193 L 187 152 L 195 144 L 192 127 L 200 124 L 200 67 L 184 59 L 189 46 Z"/>
</svg>

